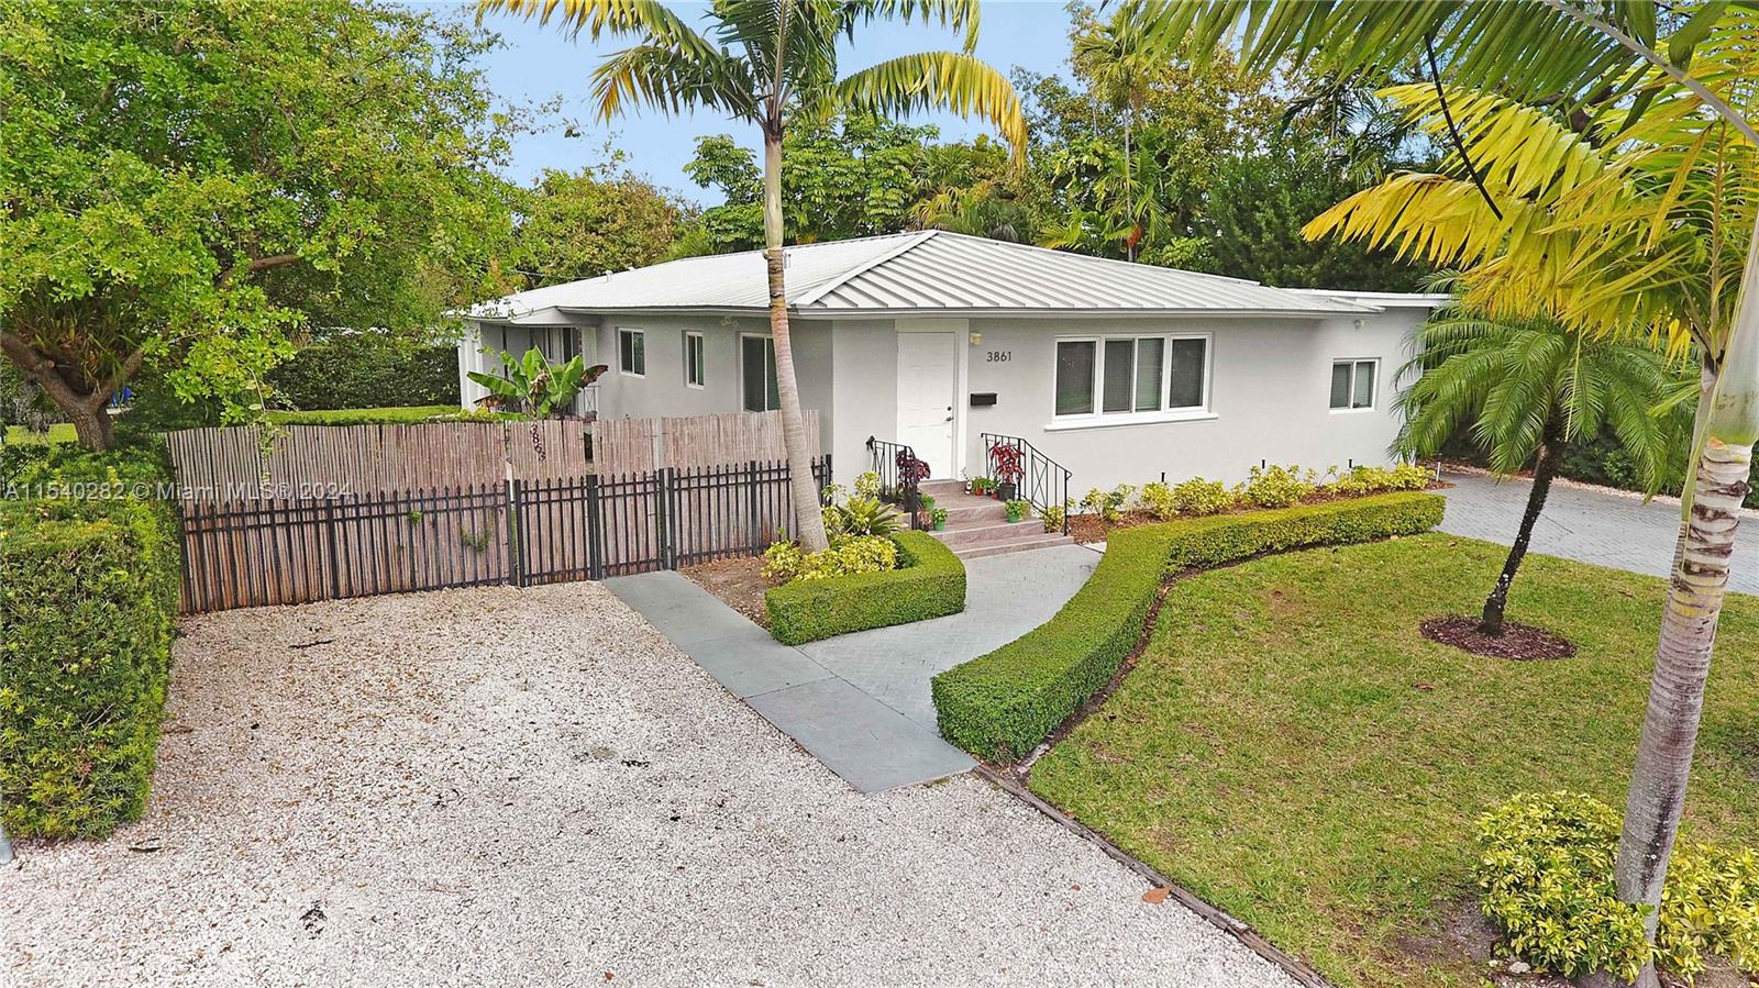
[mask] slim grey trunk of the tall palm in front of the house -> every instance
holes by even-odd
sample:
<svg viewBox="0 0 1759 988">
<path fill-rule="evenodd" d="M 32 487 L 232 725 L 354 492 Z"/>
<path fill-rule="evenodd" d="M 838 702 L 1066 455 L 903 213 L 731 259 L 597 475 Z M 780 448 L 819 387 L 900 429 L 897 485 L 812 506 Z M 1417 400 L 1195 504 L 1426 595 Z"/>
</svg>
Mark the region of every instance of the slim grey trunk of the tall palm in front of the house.
<svg viewBox="0 0 1759 988">
<path fill-rule="evenodd" d="M 776 397 L 781 403 L 781 438 L 788 450 L 788 485 L 793 494 L 793 536 L 807 552 L 830 545 L 813 480 L 813 450 L 806 448 L 806 418 L 793 378 L 793 339 L 788 336 L 786 257 L 781 250 L 781 128 L 763 128 L 763 265 L 769 274 L 770 336 L 776 341 Z"/>
</svg>

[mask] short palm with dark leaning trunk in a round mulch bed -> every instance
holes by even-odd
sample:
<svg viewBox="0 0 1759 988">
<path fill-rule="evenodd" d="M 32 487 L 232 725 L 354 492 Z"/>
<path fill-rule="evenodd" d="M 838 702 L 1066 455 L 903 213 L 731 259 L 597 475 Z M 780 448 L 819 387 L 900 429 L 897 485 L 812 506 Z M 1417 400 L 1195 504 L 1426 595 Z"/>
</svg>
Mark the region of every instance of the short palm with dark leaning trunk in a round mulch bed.
<svg viewBox="0 0 1759 988">
<path fill-rule="evenodd" d="M 1514 545 L 1485 599 L 1478 629 L 1502 635 L 1509 587 L 1569 443 L 1611 429 L 1650 492 L 1668 473 L 1668 450 L 1690 434 L 1680 422 L 1694 383 L 1648 346 L 1569 332 L 1550 318 L 1486 318 L 1451 308 L 1418 327 L 1418 355 L 1400 374 L 1421 374 L 1398 396 L 1405 422 L 1395 452 L 1434 455 L 1469 425 L 1497 473 L 1534 464 Z M 1682 396 L 1682 381 L 1687 396 Z"/>
</svg>

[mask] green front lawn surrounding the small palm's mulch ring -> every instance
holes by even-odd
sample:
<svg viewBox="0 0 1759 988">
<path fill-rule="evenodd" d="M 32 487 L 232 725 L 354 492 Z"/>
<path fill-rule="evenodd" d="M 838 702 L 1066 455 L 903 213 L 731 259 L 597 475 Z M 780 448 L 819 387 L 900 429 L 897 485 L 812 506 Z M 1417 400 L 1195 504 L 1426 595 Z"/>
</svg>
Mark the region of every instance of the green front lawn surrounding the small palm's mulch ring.
<svg viewBox="0 0 1759 988">
<path fill-rule="evenodd" d="M 1472 819 L 1525 789 L 1624 805 L 1664 584 L 1530 556 L 1509 617 L 1553 663 L 1418 635 L 1506 548 L 1425 534 L 1184 580 L 1140 665 L 1031 786 L 1339 984 L 1478 984 L 1412 948 L 1471 891 Z M 1687 832 L 1759 844 L 1759 598 L 1731 596 Z M 1414 956 L 1428 955 L 1428 956 Z"/>
</svg>

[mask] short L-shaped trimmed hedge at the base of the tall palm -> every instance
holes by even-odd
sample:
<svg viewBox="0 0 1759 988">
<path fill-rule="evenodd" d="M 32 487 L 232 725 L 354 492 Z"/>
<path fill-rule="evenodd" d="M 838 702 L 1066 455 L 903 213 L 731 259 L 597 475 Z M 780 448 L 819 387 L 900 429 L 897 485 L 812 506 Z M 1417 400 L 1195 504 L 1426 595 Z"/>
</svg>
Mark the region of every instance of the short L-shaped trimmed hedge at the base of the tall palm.
<svg viewBox="0 0 1759 988">
<path fill-rule="evenodd" d="M 770 587 L 763 594 L 770 635 L 785 645 L 804 645 L 966 608 L 966 564 L 952 548 L 922 531 L 901 531 L 892 541 L 897 570 Z"/>
</svg>

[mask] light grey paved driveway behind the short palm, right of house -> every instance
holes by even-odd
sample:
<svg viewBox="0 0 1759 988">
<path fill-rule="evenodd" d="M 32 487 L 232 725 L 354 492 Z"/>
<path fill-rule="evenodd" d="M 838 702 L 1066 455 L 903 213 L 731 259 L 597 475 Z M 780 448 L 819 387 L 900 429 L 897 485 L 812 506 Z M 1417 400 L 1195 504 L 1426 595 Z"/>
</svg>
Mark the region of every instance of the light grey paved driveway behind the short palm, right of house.
<svg viewBox="0 0 1759 988">
<path fill-rule="evenodd" d="M 1448 515 L 1441 531 L 1509 545 L 1522 524 L 1532 482 L 1449 473 Z M 1666 577 L 1680 534 L 1676 503 L 1624 498 L 1606 490 L 1551 485 L 1534 526 L 1534 552 L 1594 563 L 1613 570 Z M 1759 594 L 1759 519 L 1741 520 L 1729 568 L 1729 589 Z"/>
</svg>

